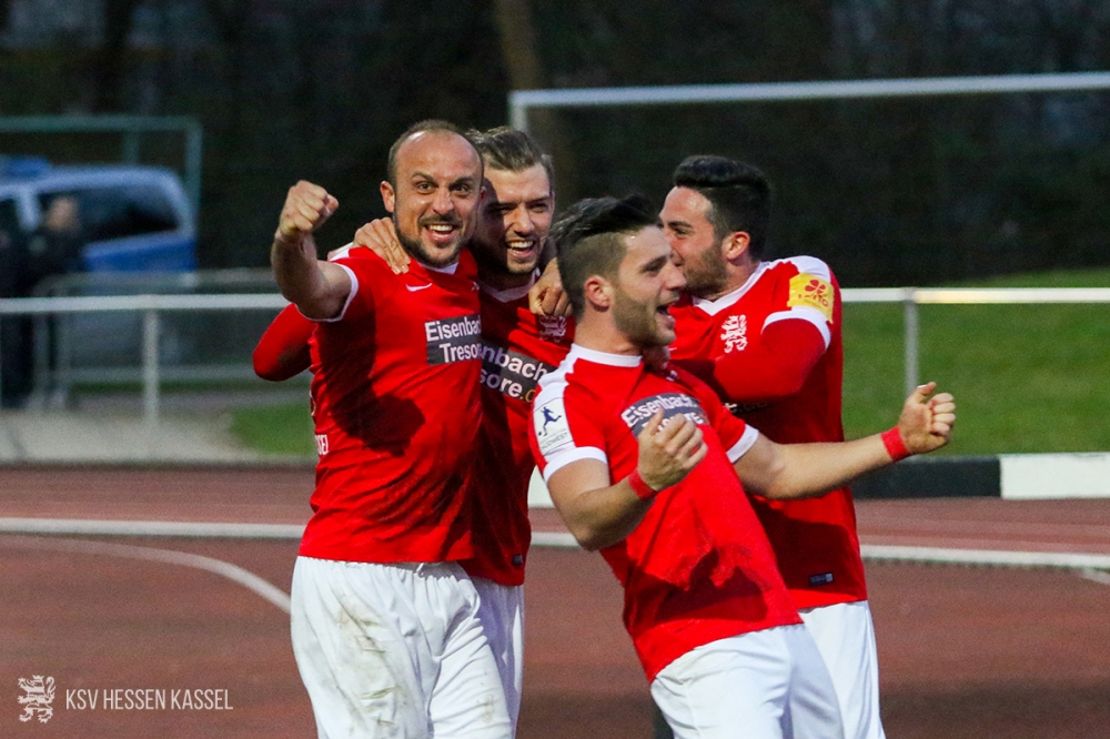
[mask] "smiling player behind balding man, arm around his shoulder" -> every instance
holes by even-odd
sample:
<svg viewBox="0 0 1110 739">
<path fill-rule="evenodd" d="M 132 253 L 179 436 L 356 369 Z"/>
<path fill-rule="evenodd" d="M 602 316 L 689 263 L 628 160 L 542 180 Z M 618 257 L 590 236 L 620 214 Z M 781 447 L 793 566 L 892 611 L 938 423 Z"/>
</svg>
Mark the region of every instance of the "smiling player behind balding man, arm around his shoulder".
<svg viewBox="0 0 1110 739">
<path fill-rule="evenodd" d="M 483 156 L 485 190 L 467 242 L 477 261 L 482 316 L 482 405 L 475 456 L 474 556 L 463 560 L 481 596 L 480 617 L 501 670 L 515 726 L 523 674 L 523 583 L 531 526 L 527 490 L 535 459 L 528 445 L 529 407 L 541 377 L 566 355 L 573 322 L 537 317 L 527 292 L 547 242 L 554 212 L 551 158 L 528 134 L 508 128 L 467 133 Z M 389 260 L 410 269 L 410 253 L 392 221 L 374 221 L 355 236 Z M 365 250 L 341 250 L 352 257 Z M 284 311 L 254 353 L 260 376 L 284 379 L 309 366 L 313 324 Z M 475 419 L 476 422 L 476 419 Z"/>
</svg>

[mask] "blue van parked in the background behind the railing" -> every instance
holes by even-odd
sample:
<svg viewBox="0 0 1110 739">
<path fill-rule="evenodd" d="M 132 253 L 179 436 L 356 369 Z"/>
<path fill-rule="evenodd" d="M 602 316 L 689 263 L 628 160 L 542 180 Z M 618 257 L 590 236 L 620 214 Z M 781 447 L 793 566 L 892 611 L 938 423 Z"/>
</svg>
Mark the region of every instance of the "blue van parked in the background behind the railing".
<svg viewBox="0 0 1110 739">
<path fill-rule="evenodd" d="M 193 209 L 168 169 L 0 156 L 0 297 L 157 291 L 195 273 Z M 188 353 L 176 326 L 162 334 L 163 358 Z M 58 373 L 89 367 L 99 377 L 134 367 L 141 336 L 137 314 L 6 320 L 0 403 L 22 404 L 32 374 L 44 395 Z"/>
</svg>

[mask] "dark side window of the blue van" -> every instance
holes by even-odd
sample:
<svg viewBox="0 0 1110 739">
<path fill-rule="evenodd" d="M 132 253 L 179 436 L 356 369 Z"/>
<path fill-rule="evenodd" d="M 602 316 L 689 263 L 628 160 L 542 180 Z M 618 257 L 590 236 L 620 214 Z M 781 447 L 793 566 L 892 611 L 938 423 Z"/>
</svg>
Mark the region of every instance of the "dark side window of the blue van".
<svg viewBox="0 0 1110 739">
<path fill-rule="evenodd" d="M 85 241 L 123 239 L 178 227 L 173 204 L 158 188 L 118 185 L 44 193 L 39 195 L 42 212 L 47 212 L 56 198 L 63 195 L 78 201 L 81 233 Z"/>
</svg>

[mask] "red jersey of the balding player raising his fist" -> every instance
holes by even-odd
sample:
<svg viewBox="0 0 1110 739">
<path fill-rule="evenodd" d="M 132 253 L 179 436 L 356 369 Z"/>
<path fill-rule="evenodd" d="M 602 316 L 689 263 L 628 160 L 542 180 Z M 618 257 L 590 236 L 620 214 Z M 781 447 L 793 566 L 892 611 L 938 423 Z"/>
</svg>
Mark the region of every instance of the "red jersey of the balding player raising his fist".
<svg viewBox="0 0 1110 739">
<path fill-rule="evenodd" d="M 472 556 L 471 475 L 481 422 L 476 266 L 340 259 L 339 318 L 311 342 L 320 462 L 300 553 L 350 561 Z"/>
</svg>

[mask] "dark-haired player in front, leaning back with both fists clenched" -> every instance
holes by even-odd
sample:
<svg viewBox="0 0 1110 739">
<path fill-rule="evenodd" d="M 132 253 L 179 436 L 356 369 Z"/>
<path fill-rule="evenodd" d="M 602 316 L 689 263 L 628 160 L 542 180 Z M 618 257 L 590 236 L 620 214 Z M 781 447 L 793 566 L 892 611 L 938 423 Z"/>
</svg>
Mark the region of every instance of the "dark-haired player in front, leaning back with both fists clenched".
<svg viewBox="0 0 1110 739">
<path fill-rule="evenodd" d="M 575 343 L 541 381 L 532 443 L 556 508 L 624 586 L 624 620 L 675 736 L 840 737 L 825 664 L 745 490 L 797 498 L 948 443 L 950 395 L 907 398 L 898 425 L 780 445 L 645 348 L 675 340 L 685 279 L 636 200 L 583 201 L 553 226 Z"/>
</svg>

